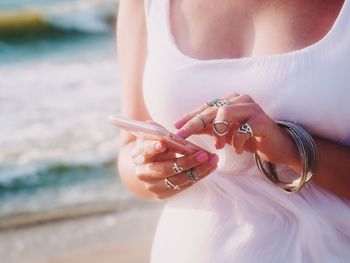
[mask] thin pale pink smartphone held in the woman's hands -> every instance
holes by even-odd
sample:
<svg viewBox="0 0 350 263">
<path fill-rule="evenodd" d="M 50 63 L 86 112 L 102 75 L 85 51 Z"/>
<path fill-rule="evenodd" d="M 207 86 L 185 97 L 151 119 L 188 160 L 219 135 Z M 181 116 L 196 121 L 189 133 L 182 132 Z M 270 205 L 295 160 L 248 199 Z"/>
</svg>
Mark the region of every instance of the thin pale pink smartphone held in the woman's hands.
<svg viewBox="0 0 350 263">
<path fill-rule="evenodd" d="M 198 145 L 187 141 L 162 126 L 144 121 L 133 120 L 122 116 L 109 116 L 109 122 L 120 129 L 126 130 L 138 138 L 145 140 L 159 140 L 170 148 L 178 150 L 180 154 L 191 154 L 199 150 L 205 151 Z"/>
</svg>

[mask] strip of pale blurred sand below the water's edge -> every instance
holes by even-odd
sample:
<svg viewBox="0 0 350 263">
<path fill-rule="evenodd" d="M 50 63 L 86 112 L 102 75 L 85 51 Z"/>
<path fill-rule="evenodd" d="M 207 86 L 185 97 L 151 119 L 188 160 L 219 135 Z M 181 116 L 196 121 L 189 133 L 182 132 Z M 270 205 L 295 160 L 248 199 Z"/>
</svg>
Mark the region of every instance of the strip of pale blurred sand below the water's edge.
<svg viewBox="0 0 350 263">
<path fill-rule="evenodd" d="M 162 204 L 0 232 L 6 263 L 149 262 Z"/>
</svg>

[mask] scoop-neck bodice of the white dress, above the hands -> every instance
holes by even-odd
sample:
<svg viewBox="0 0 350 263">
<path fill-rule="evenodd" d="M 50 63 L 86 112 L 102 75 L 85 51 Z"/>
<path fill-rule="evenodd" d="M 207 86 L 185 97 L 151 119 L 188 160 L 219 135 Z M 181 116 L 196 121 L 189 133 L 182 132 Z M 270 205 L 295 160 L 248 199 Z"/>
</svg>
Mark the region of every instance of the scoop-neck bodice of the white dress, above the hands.
<svg viewBox="0 0 350 263">
<path fill-rule="evenodd" d="M 210 45 L 205 42 L 194 49 L 203 48 L 203 53 L 197 55 L 179 50 L 181 38 L 170 31 L 168 20 L 171 1 L 154 1 L 148 20 L 149 53 L 143 79 L 150 115 L 171 129 L 174 120 L 206 101 L 236 92 L 249 94 L 272 119 L 293 121 L 315 135 L 350 144 L 347 1 L 330 32 L 309 48 L 244 58 L 225 55 L 230 49 L 218 46 L 213 50 L 219 53 L 206 53 Z M 206 34 L 199 36 L 206 39 Z M 189 36 L 194 41 L 194 34 Z M 232 47 L 237 47 L 234 44 Z M 258 46 L 254 43 L 255 49 Z M 222 50 L 225 52 L 220 53 Z M 223 59 L 218 57 L 220 54 Z"/>
</svg>

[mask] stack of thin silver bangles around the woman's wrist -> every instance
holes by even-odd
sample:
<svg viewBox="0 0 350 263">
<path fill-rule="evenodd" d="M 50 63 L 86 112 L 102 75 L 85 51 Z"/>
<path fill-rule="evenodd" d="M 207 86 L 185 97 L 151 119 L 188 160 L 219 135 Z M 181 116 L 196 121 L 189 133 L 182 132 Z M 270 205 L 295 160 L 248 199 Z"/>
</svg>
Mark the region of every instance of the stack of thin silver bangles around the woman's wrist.
<svg viewBox="0 0 350 263">
<path fill-rule="evenodd" d="M 287 193 L 296 193 L 310 181 L 316 171 L 317 146 L 311 135 L 299 125 L 286 121 L 277 121 L 276 124 L 287 132 L 297 145 L 301 160 L 300 177 L 292 182 L 283 182 L 278 177 L 275 164 L 263 161 L 258 154 L 254 154 L 254 159 L 265 178 Z"/>
</svg>

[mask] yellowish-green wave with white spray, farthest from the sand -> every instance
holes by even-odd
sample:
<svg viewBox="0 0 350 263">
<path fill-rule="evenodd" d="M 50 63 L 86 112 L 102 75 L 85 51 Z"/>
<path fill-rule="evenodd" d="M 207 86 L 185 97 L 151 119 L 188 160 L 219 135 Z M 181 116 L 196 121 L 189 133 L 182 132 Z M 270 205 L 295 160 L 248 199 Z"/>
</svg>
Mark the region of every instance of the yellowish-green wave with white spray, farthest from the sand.
<svg viewBox="0 0 350 263">
<path fill-rule="evenodd" d="M 0 11 L 0 39 L 64 33 L 100 34 L 111 31 L 116 0 L 80 0 Z"/>
</svg>

